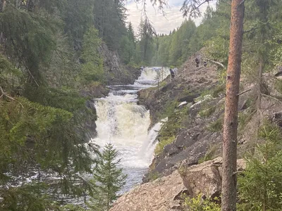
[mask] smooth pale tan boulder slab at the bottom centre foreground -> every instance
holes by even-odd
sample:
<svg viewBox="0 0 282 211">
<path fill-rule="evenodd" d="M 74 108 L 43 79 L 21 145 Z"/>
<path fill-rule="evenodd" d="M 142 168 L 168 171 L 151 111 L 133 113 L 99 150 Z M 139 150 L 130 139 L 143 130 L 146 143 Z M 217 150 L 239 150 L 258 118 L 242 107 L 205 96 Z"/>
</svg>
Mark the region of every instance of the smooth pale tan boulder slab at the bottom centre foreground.
<svg viewBox="0 0 282 211">
<path fill-rule="evenodd" d="M 168 177 L 137 186 L 118 198 L 111 211 L 178 210 L 180 195 L 187 189 L 178 171 Z"/>
</svg>

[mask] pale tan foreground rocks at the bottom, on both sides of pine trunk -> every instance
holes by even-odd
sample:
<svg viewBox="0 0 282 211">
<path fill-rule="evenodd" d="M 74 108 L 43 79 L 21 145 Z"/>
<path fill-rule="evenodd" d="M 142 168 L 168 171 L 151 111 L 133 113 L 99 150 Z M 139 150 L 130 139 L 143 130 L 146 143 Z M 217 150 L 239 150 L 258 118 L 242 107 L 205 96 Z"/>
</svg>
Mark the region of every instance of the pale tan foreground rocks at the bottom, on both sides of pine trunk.
<svg viewBox="0 0 282 211">
<path fill-rule="evenodd" d="M 171 175 L 135 187 L 118 198 L 111 211 L 168 211 L 181 210 L 183 193 L 206 198 L 219 196 L 221 191 L 222 158 L 186 167 Z M 238 160 L 238 170 L 245 169 L 245 161 Z"/>
</svg>

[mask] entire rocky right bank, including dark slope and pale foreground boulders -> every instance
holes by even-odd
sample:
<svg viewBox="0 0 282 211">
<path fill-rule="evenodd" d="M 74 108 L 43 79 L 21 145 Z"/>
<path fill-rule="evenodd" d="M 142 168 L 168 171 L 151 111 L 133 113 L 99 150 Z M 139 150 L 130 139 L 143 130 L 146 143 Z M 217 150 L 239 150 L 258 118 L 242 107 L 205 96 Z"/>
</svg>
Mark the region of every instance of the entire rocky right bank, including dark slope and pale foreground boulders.
<svg viewBox="0 0 282 211">
<path fill-rule="evenodd" d="M 143 184 L 119 198 L 111 211 L 183 210 L 183 193 L 214 198 L 221 193 L 221 140 L 225 83 L 216 65 L 193 64 L 190 58 L 175 79 L 138 92 L 150 110 L 151 124 L 168 117 L 159 131 L 154 160 Z M 276 71 L 263 75 L 260 117 L 282 127 L 282 81 Z M 245 153 L 257 133 L 257 89 L 241 78 L 238 113 L 238 171 L 245 169 Z M 263 122 L 262 122 L 263 124 Z M 256 142 L 257 143 L 257 142 Z M 241 158 L 241 159 L 239 159 Z"/>
</svg>

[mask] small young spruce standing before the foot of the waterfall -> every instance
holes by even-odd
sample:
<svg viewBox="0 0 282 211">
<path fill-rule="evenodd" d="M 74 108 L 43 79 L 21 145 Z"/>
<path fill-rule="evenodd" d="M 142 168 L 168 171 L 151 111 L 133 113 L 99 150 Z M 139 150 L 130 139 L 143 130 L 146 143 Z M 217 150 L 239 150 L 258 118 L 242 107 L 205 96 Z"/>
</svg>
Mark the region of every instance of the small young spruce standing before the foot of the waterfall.
<svg viewBox="0 0 282 211">
<path fill-rule="evenodd" d="M 111 143 L 107 143 L 93 174 L 92 183 L 97 185 L 97 193 L 92 196 L 89 207 L 94 210 L 109 210 L 125 184 L 127 176 L 118 167 L 121 160 L 117 157 L 118 151 Z"/>
</svg>

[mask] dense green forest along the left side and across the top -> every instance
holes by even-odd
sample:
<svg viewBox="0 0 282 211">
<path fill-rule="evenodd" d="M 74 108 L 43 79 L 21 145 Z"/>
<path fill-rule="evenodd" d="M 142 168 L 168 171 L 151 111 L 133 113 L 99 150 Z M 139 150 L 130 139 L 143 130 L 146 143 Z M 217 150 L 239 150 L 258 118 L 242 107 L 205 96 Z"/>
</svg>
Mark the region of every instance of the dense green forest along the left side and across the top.
<svg viewBox="0 0 282 211">
<path fill-rule="evenodd" d="M 201 49 L 226 67 L 230 2 L 208 7 L 198 27 L 188 18 L 170 34 L 157 34 L 146 18 L 134 32 L 125 0 L 2 0 L 0 210 L 59 210 L 58 193 L 97 191 L 80 177 L 103 158 L 88 142 L 85 122 L 96 114 L 80 91 L 106 84 L 102 43 L 135 67 L 180 67 Z M 266 71 L 282 63 L 282 2 L 251 0 L 245 6 L 243 72 L 257 79 L 259 64 Z M 39 176 L 27 182 L 30 171 Z M 59 177 L 58 185 L 44 182 L 42 173 Z"/>
</svg>

